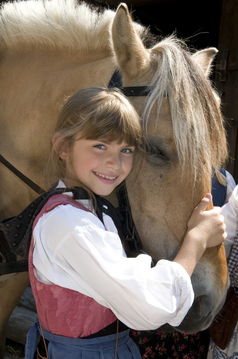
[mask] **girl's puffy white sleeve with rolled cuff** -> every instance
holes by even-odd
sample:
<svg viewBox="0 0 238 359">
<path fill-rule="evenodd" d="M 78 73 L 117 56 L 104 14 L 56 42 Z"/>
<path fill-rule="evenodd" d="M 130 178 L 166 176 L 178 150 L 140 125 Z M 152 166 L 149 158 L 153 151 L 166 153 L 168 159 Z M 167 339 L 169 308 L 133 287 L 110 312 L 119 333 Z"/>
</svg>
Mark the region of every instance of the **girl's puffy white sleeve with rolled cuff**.
<svg viewBox="0 0 238 359">
<path fill-rule="evenodd" d="M 130 328 L 153 330 L 165 323 L 178 326 L 192 305 L 190 277 L 180 264 L 161 260 L 151 268 L 148 255 L 124 257 L 118 234 L 106 231 L 92 213 L 62 206 L 39 230 L 38 242 L 48 253 L 44 261 L 43 255 L 34 258 L 33 252 L 36 269 L 41 260 L 42 275 L 51 283 L 94 298 Z M 50 241 L 44 244 L 47 237 Z M 49 256 L 52 271 L 47 270 Z"/>
</svg>

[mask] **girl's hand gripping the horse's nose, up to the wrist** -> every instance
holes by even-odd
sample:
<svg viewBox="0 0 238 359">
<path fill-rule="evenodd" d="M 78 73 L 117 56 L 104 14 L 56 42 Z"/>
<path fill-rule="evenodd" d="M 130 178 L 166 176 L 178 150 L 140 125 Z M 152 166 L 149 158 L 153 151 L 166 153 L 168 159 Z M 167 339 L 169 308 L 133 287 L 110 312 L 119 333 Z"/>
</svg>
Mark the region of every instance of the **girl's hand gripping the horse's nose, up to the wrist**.
<svg viewBox="0 0 238 359">
<path fill-rule="evenodd" d="M 224 217 L 220 207 L 214 207 L 210 211 L 206 208 L 211 203 L 212 196 L 207 194 L 192 212 L 187 222 L 187 234 L 201 244 L 205 249 L 218 246 L 226 238 Z"/>
</svg>

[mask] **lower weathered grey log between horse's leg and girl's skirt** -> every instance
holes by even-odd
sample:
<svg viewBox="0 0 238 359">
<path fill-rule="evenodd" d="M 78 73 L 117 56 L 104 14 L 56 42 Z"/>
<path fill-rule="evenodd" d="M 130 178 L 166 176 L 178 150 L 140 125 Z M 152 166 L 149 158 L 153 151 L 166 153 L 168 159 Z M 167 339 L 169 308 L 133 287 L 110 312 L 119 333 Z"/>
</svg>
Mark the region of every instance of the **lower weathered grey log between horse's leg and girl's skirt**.
<svg viewBox="0 0 238 359">
<path fill-rule="evenodd" d="M 37 314 L 25 308 L 16 307 L 8 321 L 6 336 L 18 343 L 25 344 L 27 333 L 35 322 Z"/>
</svg>

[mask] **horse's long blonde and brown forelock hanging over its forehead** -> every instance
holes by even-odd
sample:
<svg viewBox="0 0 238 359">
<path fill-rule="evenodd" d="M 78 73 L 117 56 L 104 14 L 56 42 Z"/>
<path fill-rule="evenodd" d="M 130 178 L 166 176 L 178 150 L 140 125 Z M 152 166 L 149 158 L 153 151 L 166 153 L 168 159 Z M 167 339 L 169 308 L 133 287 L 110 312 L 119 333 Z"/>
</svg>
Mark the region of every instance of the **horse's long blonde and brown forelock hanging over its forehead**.
<svg viewBox="0 0 238 359">
<path fill-rule="evenodd" d="M 183 41 L 169 36 L 152 51 L 157 70 L 144 109 L 145 126 L 153 105 L 157 104 L 159 114 L 166 96 L 181 165 L 183 168 L 185 164 L 191 165 L 194 181 L 204 171 L 211 177 L 213 170 L 217 172 L 219 167 L 224 167 L 228 158 L 218 94 Z M 224 183 L 221 176 L 219 181 Z"/>
</svg>

